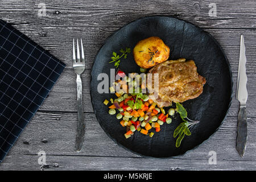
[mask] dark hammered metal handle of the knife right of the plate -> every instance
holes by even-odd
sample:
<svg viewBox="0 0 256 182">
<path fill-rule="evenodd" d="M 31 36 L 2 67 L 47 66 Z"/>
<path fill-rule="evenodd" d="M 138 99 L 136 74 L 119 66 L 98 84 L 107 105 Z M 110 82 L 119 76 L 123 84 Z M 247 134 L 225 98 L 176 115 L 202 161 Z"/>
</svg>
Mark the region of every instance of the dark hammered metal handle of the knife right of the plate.
<svg viewBox="0 0 256 182">
<path fill-rule="evenodd" d="M 246 106 L 241 105 L 238 113 L 238 124 L 237 124 L 237 146 L 238 153 L 243 156 L 245 153 L 247 142 L 247 115 Z"/>
</svg>

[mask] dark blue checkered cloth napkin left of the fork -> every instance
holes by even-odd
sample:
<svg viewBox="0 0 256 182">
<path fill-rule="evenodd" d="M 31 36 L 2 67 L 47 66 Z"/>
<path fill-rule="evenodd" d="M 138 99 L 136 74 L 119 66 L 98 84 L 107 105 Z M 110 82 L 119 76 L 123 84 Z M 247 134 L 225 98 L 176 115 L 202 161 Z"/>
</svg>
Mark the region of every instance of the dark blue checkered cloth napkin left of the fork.
<svg viewBox="0 0 256 182">
<path fill-rule="evenodd" d="M 65 64 L 0 19 L 0 162 Z"/>
</svg>

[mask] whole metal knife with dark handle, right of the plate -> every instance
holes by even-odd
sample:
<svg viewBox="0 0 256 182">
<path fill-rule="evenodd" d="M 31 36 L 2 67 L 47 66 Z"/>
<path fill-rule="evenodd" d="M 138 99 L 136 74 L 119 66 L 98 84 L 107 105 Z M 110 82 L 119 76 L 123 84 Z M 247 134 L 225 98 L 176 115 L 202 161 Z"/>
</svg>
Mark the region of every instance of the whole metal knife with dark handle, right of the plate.
<svg viewBox="0 0 256 182">
<path fill-rule="evenodd" d="M 240 110 L 238 113 L 238 124 L 237 124 L 237 146 L 236 149 L 238 154 L 243 156 L 245 154 L 246 142 L 247 142 L 247 116 L 246 116 L 246 101 L 248 97 L 246 83 L 246 56 L 245 56 L 245 41 L 243 35 L 241 35 L 240 42 L 240 59 L 238 67 L 237 77 L 237 94 L 236 98 L 240 101 Z"/>
</svg>

